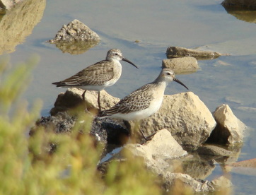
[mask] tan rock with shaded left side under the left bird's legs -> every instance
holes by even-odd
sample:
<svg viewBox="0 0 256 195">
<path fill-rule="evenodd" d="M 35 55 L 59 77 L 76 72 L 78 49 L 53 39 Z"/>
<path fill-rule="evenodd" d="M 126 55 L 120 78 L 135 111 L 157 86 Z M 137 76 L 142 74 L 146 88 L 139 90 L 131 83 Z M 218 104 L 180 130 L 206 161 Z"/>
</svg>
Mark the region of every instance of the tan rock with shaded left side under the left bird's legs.
<svg viewBox="0 0 256 195">
<path fill-rule="evenodd" d="M 65 93 L 60 93 L 50 113 L 54 115 L 58 112 L 81 107 L 83 110 L 87 109 L 96 114 L 98 112 L 98 92 L 93 90 L 86 91 L 86 101 L 83 101 L 83 92 L 84 90 L 78 88 L 69 88 Z M 103 110 L 112 107 L 119 102 L 119 100 L 119 98 L 109 95 L 105 90 L 100 91 L 100 105 Z"/>
</svg>

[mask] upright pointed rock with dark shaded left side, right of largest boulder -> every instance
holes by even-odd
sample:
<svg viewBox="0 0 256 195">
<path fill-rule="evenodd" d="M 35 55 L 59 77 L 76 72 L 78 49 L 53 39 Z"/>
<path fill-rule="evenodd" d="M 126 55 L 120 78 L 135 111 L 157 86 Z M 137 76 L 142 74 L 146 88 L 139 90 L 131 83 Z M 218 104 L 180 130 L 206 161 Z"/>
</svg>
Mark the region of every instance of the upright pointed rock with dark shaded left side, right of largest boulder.
<svg viewBox="0 0 256 195">
<path fill-rule="evenodd" d="M 245 124 L 233 114 L 228 105 L 221 105 L 214 112 L 217 126 L 212 131 L 209 142 L 234 144 L 243 142 Z"/>
</svg>

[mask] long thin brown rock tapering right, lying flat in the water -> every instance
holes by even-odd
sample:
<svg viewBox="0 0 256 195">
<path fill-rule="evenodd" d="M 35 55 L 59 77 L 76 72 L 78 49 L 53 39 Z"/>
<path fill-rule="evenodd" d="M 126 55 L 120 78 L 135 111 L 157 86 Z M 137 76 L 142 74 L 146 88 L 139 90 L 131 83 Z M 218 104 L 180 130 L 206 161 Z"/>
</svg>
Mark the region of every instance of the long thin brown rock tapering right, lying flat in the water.
<svg viewBox="0 0 256 195">
<path fill-rule="evenodd" d="M 196 59 L 214 59 L 221 55 L 224 54 L 220 54 L 218 52 L 199 51 L 196 49 L 187 49 L 184 47 L 168 47 L 166 50 L 167 58 L 195 57 Z"/>
</svg>

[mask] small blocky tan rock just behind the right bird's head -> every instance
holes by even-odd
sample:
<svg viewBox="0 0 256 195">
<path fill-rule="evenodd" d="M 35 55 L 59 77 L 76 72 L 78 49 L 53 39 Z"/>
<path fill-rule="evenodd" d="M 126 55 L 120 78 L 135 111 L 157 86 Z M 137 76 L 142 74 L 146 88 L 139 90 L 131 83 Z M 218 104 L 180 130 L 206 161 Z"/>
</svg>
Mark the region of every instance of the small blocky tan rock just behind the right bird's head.
<svg viewBox="0 0 256 195">
<path fill-rule="evenodd" d="M 163 69 L 173 69 L 177 73 L 192 73 L 199 69 L 197 59 L 194 57 L 178 57 L 173 59 L 163 59 Z"/>
</svg>

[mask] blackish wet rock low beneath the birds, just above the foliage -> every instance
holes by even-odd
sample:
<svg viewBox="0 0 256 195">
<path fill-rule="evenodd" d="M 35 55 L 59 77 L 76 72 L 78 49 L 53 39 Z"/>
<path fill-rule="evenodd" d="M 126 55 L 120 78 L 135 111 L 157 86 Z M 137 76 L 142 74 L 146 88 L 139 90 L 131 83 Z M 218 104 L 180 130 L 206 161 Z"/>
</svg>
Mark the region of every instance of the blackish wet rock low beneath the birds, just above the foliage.
<svg viewBox="0 0 256 195">
<path fill-rule="evenodd" d="M 69 134 L 75 124 L 81 124 L 79 130 L 83 134 L 83 127 L 90 124 L 90 134 L 95 137 L 95 140 L 105 144 L 123 145 L 127 143 L 129 138 L 129 130 L 122 120 L 113 119 L 94 119 L 93 114 L 83 113 L 83 121 L 79 119 L 79 113 L 58 112 L 55 116 L 41 117 L 38 119 L 35 126 L 30 129 L 30 136 L 33 136 L 38 129 L 44 127 L 45 132 L 52 131 L 55 134 Z M 57 144 L 57 143 L 56 143 Z"/>
</svg>

